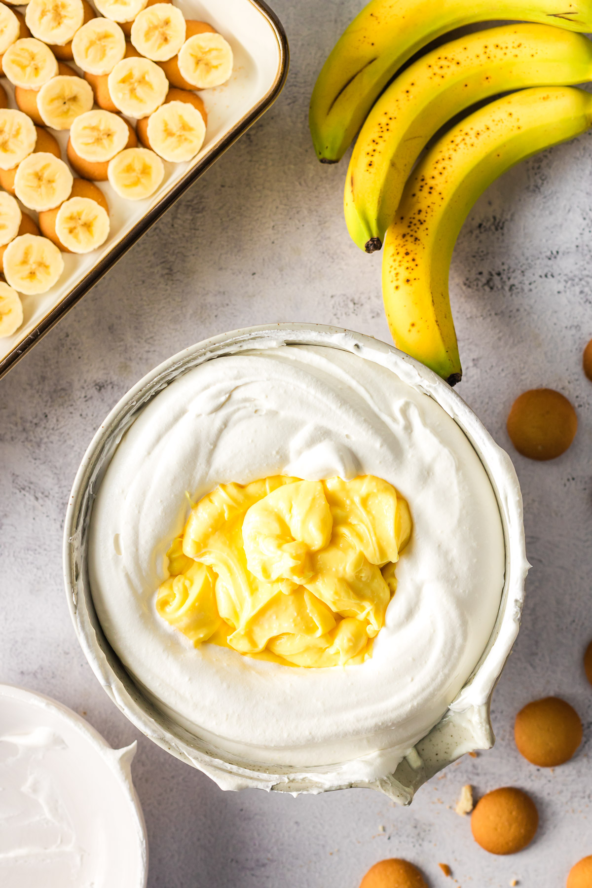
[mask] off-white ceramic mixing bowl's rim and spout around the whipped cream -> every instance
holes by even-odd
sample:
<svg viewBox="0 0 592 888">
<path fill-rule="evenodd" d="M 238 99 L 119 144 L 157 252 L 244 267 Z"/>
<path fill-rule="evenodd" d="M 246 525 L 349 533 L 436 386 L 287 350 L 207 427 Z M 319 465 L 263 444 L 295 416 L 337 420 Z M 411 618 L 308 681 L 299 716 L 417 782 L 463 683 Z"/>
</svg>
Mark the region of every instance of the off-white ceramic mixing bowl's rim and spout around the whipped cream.
<svg viewBox="0 0 592 888">
<path fill-rule="evenodd" d="M 392 369 L 409 385 L 436 400 L 460 425 L 478 453 L 500 508 L 506 550 L 505 583 L 498 619 L 485 651 L 469 681 L 438 724 L 413 749 L 409 749 L 394 773 L 372 781 L 341 777 L 340 773 L 347 770 L 347 763 L 328 763 L 327 767 L 312 767 L 303 772 L 297 768 L 264 767 L 232 759 L 174 724 L 154 707 L 123 668 L 101 630 L 92 603 L 87 574 L 92 503 L 114 448 L 138 413 L 158 392 L 203 361 L 243 349 L 294 344 L 328 345 L 354 354 L 363 350 L 365 359 Z M 364 786 L 380 789 L 402 805 L 412 800 L 415 789 L 424 781 L 456 758 L 493 745 L 489 704 L 493 687 L 517 636 L 527 569 L 522 499 L 514 466 L 462 398 L 431 370 L 392 345 L 348 330 L 305 324 L 278 324 L 214 337 L 178 353 L 140 380 L 114 407 L 91 441 L 76 475 L 64 535 L 67 600 L 80 644 L 107 694 L 146 736 L 182 761 L 209 774 L 223 789 L 258 787 L 317 793 Z"/>
</svg>

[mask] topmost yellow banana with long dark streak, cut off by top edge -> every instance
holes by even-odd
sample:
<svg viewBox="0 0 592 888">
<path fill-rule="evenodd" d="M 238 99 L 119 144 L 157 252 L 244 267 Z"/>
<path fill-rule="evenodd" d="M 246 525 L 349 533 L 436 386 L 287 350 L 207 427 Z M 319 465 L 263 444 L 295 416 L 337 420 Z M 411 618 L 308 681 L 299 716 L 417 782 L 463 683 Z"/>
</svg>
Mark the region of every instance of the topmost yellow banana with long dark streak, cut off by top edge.
<svg viewBox="0 0 592 888">
<path fill-rule="evenodd" d="M 375 99 L 415 52 L 453 28 L 492 20 L 592 31 L 592 0 L 371 0 L 335 44 L 312 91 L 309 122 L 320 161 L 343 156 Z"/>
</svg>

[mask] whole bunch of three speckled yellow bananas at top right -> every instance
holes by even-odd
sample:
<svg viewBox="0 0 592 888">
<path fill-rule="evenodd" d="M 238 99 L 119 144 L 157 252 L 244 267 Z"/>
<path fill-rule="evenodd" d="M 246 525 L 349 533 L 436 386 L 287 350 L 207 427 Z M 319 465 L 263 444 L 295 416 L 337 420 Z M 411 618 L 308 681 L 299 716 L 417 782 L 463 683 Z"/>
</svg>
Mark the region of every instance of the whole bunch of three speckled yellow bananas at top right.
<svg viewBox="0 0 592 888">
<path fill-rule="evenodd" d="M 492 19 L 526 23 L 440 46 L 384 89 L 434 37 Z M 371 0 L 315 84 L 310 125 L 322 163 L 336 163 L 363 123 L 345 180 L 345 220 L 361 250 L 385 242 L 383 299 L 395 344 L 451 385 L 462 377 L 448 298 L 454 242 L 493 179 L 588 129 L 592 99 L 570 84 L 591 79 L 592 43 L 573 33 L 590 30 L 592 0 Z M 470 115 L 414 170 L 446 123 L 513 90 L 524 92 Z"/>
</svg>

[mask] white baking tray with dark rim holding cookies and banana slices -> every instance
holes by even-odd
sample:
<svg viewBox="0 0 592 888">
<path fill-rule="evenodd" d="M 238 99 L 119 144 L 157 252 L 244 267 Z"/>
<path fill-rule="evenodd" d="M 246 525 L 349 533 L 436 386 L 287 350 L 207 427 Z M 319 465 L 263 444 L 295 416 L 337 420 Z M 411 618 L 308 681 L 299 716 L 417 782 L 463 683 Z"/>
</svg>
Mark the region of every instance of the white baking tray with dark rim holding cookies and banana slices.
<svg viewBox="0 0 592 888">
<path fill-rule="evenodd" d="M 98 183 L 107 196 L 111 216 L 107 242 L 84 256 L 64 253 L 66 267 L 55 287 L 41 296 L 22 297 L 22 326 L 12 337 L 0 339 L 0 377 L 249 129 L 280 93 L 288 74 L 288 40 L 280 21 L 262 0 L 175 0 L 175 5 L 186 19 L 209 22 L 233 47 L 230 81 L 201 92 L 208 112 L 203 147 L 189 163 L 164 163 L 162 186 L 145 201 L 124 201 L 108 182 Z M 24 11 L 22 7 L 21 12 Z M 12 84 L 5 77 L 2 84 L 10 107 L 17 107 Z M 62 147 L 62 159 L 66 160 L 67 131 L 51 132 Z"/>
</svg>

